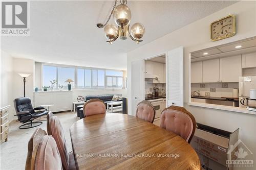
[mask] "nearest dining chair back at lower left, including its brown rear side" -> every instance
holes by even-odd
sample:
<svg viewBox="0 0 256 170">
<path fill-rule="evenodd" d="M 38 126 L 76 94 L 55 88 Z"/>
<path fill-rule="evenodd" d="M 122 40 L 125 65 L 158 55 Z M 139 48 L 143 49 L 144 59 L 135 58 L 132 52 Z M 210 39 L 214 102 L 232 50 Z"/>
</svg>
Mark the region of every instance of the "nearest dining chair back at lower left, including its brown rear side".
<svg viewBox="0 0 256 170">
<path fill-rule="evenodd" d="M 61 158 L 52 136 L 37 128 L 28 143 L 26 170 L 62 169 Z"/>
</svg>

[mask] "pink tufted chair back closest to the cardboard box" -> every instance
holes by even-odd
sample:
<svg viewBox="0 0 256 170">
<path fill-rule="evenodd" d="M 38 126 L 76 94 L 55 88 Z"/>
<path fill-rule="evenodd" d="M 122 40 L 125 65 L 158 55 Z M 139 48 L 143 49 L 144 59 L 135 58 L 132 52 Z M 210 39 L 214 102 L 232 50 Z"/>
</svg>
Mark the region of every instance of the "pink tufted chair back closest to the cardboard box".
<svg viewBox="0 0 256 170">
<path fill-rule="evenodd" d="M 161 113 L 160 127 L 176 133 L 189 143 L 196 130 L 196 120 L 185 108 L 170 106 Z"/>
</svg>

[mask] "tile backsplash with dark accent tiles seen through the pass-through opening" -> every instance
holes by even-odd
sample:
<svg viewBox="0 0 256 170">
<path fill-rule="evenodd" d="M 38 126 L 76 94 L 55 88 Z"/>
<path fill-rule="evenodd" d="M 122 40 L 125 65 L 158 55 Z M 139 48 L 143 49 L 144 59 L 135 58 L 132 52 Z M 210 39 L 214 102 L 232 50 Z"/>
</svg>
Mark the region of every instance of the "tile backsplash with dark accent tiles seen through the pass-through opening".
<svg viewBox="0 0 256 170">
<path fill-rule="evenodd" d="M 204 87 L 203 85 L 204 84 Z M 214 97 L 232 97 L 233 88 L 238 88 L 238 82 L 235 83 L 191 83 L 191 92 L 200 91 L 202 96 L 206 96 L 205 92 Z"/>
</svg>

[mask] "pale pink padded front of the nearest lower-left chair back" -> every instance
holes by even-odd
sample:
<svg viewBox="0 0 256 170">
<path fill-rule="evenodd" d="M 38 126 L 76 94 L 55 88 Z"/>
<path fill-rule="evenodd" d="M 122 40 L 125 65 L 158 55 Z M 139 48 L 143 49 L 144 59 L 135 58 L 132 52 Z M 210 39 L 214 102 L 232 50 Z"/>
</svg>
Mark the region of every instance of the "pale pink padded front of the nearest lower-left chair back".
<svg viewBox="0 0 256 170">
<path fill-rule="evenodd" d="M 42 138 L 35 159 L 35 170 L 62 169 L 57 144 L 52 136 Z"/>
</svg>

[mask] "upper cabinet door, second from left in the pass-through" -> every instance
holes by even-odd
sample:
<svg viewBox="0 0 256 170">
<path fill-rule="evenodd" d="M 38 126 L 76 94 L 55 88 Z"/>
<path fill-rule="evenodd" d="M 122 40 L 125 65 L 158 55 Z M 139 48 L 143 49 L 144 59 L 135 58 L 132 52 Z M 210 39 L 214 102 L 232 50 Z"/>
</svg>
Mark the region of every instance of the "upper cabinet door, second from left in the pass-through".
<svg viewBox="0 0 256 170">
<path fill-rule="evenodd" d="M 203 83 L 220 82 L 220 59 L 203 61 Z"/>
</svg>

